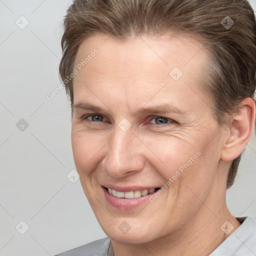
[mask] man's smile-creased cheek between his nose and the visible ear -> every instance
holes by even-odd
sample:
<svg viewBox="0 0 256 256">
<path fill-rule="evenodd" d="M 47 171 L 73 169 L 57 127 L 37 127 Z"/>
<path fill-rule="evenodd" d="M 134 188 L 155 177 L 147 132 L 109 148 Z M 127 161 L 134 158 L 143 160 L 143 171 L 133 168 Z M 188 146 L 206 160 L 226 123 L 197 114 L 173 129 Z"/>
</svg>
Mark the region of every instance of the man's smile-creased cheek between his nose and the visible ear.
<svg viewBox="0 0 256 256">
<path fill-rule="evenodd" d="M 182 194 L 184 201 L 194 199 L 193 192 L 204 196 L 217 168 L 213 144 L 205 146 L 199 138 L 186 140 L 171 136 L 144 137 L 143 141 L 153 152 L 146 156 L 149 165 L 164 178 L 163 185 L 170 188 L 172 196 Z"/>
</svg>

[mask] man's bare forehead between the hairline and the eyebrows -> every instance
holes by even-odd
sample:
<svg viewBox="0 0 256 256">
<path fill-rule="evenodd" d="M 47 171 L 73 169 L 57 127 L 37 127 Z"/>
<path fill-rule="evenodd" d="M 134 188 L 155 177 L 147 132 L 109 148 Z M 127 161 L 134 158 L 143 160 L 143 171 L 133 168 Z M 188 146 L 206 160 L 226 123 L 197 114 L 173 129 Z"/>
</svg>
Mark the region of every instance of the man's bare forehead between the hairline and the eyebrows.
<svg viewBox="0 0 256 256">
<path fill-rule="evenodd" d="M 78 48 L 74 102 L 84 97 L 82 91 L 91 93 L 91 86 L 97 95 L 110 95 L 110 91 L 116 90 L 120 96 L 134 98 L 148 92 L 149 99 L 162 88 L 159 95 L 173 92 L 191 96 L 203 84 L 203 68 L 207 64 L 207 50 L 189 36 L 137 36 L 120 41 L 96 34 L 82 41 Z"/>
</svg>

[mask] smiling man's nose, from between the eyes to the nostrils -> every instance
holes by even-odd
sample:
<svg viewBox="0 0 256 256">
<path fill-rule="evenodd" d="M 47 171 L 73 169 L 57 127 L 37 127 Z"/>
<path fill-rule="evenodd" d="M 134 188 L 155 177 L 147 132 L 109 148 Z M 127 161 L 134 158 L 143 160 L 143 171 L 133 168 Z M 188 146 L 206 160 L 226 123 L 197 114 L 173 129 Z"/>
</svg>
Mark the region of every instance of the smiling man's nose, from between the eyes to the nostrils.
<svg viewBox="0 0 256 256">
<path fill-rule="evenodd" d="M 142 170 L 143 143 L 130 128 L 122 131 L 118 126 L 107 143 L 107 153 L 102 159 L 105 171 L 112 177 L 126 177 Z"/>
</svg>

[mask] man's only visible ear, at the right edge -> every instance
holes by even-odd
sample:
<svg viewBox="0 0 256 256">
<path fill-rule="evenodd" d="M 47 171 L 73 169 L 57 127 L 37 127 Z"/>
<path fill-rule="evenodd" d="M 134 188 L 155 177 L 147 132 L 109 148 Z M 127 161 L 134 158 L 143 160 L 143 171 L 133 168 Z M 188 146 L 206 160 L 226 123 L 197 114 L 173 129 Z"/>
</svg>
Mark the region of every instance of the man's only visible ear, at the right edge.
<svg viewBox="0 0 256 256">
<path fill-rule="evenodd" d="M 245 98 L 232 115 L 230 127 L 224 131 L 221 160 L 230 161 L 242 152 L 254 130 L 255 101 Z"/>
</svg>

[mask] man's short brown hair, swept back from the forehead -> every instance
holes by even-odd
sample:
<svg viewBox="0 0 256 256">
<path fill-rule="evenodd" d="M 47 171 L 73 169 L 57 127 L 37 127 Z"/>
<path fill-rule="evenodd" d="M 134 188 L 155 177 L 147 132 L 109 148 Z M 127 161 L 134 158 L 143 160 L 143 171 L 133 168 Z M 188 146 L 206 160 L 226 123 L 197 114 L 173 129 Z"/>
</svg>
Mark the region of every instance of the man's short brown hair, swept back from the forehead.
<svg viewBox="0 0 256 256">
<path fill-rule="evenodd" d="M 175 31 L 207 44 L 210 62 L 203 74 L 204 89 L 212 96 L 211 107 L 219 125 L 254 93 L 256 25 L 247 0 L 74 0 L 63 26 L 59 74 L 72 115 L 73 79 L 69 74 L 80 43 L 95 33 L 127 40 L 131 35 Z M 230 165 L 227 188 L 234 182 L 240 158 L 241 154 Z"/>
</svg>

